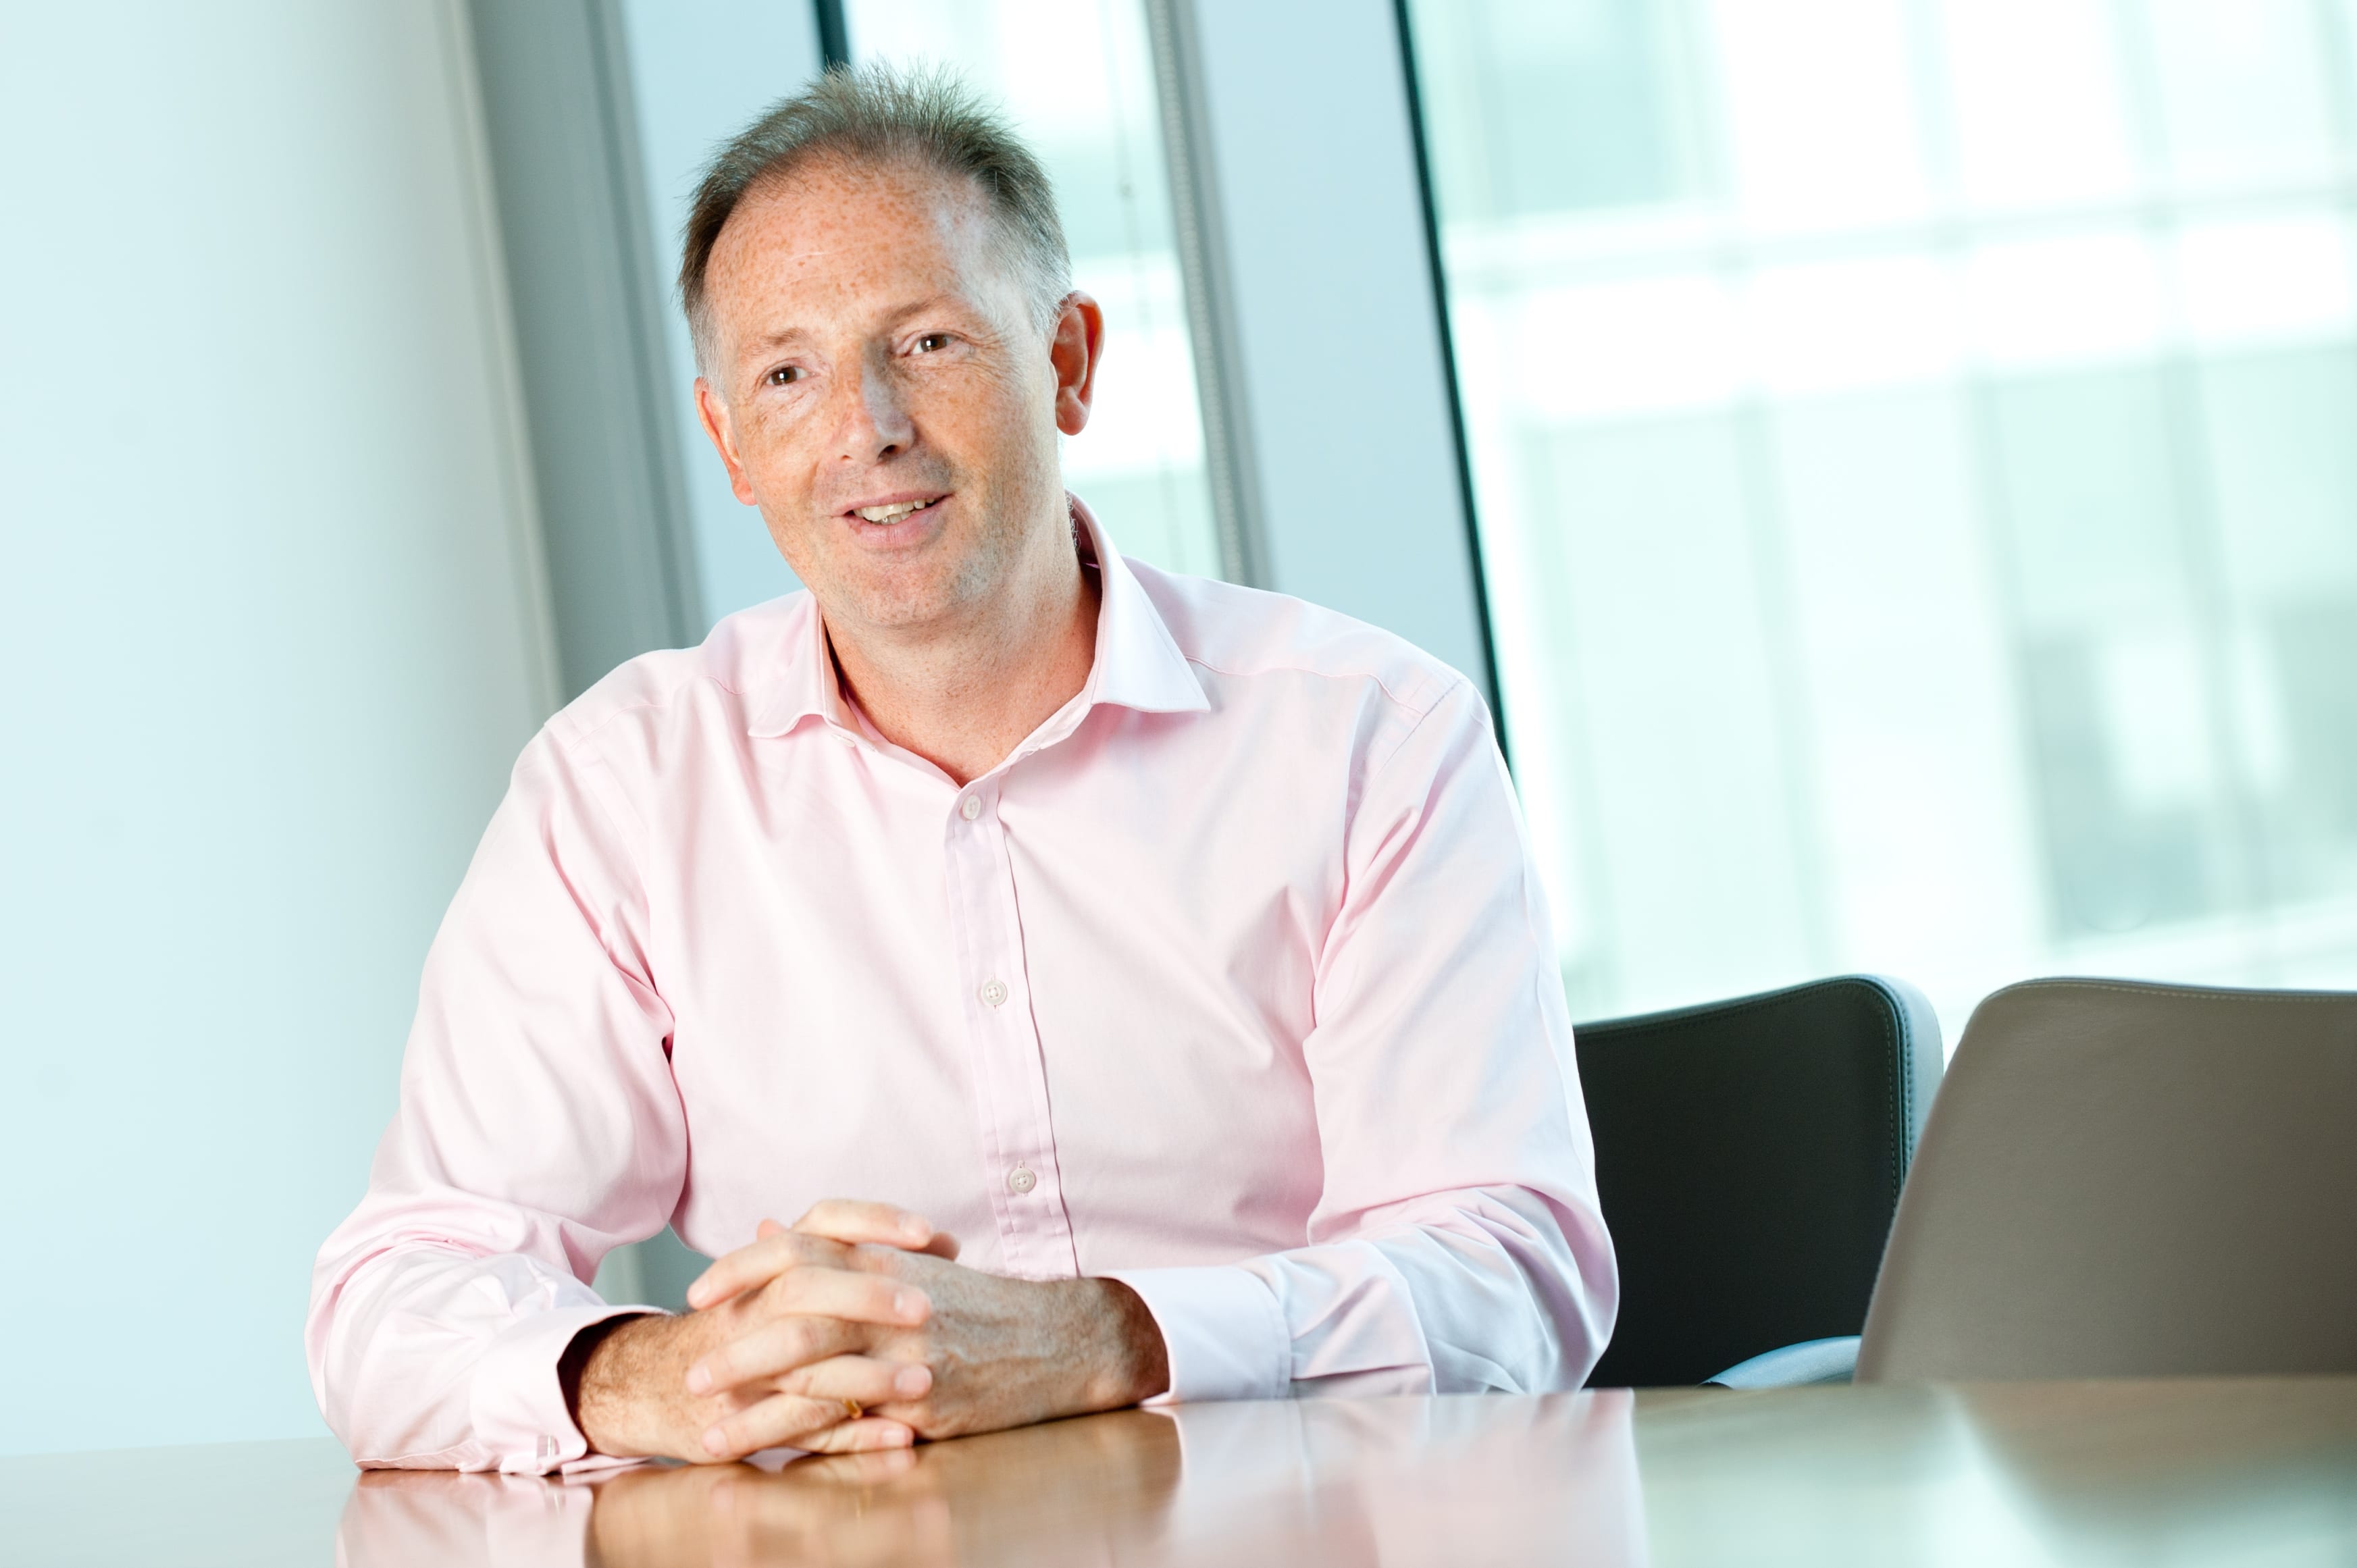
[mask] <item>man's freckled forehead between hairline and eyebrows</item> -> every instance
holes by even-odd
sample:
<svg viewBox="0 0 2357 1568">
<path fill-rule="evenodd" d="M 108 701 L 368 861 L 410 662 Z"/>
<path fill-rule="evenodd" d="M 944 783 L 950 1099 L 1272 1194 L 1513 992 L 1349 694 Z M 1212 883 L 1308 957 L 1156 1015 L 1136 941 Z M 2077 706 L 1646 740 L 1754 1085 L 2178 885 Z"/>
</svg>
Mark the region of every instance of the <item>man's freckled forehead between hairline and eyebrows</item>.
<svg viewBox="0 0 2357 1568">
<path fill-rule="evenodd" d="M 825 158 L 745 193 L 705 274 L 705 295 L 726 321 L 757 330 L 804 325 L 778 311 L 988 288 L 992 215 L 969 182 L 910 163 Z"/>
</svg>

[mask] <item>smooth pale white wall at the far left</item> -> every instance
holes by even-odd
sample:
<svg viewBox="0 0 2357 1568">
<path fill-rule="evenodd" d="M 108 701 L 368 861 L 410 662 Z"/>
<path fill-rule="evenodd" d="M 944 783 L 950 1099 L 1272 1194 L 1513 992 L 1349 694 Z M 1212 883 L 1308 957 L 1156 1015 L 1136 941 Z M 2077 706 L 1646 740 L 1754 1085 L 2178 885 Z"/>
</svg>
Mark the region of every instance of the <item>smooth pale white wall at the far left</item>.
<svg viewBox="0 0 2357 1568">
<path fill-rule="evenodd" d="M 552 693 L 464 38 L 0 12 L 0 1452 L 321 1431 L 311 1254 Z"/>
</svg>

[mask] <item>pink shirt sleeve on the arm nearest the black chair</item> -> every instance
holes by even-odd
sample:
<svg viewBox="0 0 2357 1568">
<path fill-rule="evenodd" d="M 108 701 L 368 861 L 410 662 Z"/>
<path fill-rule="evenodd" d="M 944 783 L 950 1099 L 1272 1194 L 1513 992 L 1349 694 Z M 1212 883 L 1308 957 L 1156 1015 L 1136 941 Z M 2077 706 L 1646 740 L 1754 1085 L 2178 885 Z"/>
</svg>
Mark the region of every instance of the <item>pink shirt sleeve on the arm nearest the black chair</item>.
<svg viewBox="0 0 2357 1568">
<path fill-rule="evenodd" d="M 1461 681 L 1367 771 L 1315 1002 L 1308 1245 L 1113 1276 L 1164 1398 L 1577 1389 L 1619 1278 L 1546 901 Z"/>
</svg>

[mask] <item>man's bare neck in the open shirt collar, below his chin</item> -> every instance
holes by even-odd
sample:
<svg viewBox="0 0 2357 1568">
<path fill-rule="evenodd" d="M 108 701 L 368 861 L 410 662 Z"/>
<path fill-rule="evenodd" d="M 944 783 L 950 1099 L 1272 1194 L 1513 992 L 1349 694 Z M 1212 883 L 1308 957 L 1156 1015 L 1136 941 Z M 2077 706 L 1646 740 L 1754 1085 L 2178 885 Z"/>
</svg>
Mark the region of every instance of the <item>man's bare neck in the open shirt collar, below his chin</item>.
<svg viewBox="0 0 2357 1568">
<path fill-rule="evenodd" d="M 1058 528 L 1049 545 L 952 625 L 874 627 L 820 606 L 851 700 L 886 740 L 959 785 L 1004 762 L 1089 681 L 1098 580 L 1070 533 Z"/>
</svg>

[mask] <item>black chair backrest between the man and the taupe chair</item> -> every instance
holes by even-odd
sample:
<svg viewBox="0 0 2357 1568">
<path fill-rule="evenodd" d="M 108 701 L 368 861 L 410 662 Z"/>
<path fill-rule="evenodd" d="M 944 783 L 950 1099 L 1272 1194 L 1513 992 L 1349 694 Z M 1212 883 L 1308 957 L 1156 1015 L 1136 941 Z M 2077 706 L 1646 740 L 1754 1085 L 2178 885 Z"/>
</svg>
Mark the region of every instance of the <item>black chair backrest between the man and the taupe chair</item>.
<svg viewBox="0 0 2357 1568">
<path fill-rule="evenodd" d="M 1589 1384 L 1697 1384 L 1855 1335 L 1940 1087 L 1930 1004 L 1843 976 L 1572 1037 L 1622 1278 Z"/>
</svg>

